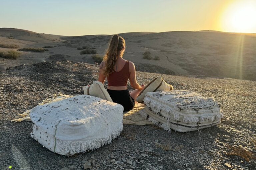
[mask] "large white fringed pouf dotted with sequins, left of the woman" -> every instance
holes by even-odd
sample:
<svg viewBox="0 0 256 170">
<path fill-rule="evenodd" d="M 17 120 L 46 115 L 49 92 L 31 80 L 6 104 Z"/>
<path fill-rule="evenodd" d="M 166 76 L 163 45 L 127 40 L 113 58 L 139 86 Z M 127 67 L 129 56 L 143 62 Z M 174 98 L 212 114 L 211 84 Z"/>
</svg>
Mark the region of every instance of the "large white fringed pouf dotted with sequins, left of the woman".
<svg viewBox="0 0 256 170">
<path fill-rule="evenodd" d="M 55 153 L 72 155 L 111 143 L 123 128 L 123 106 L 79 95 L 37 106 L 30 118 L 36 141 Z"/>
</svg>

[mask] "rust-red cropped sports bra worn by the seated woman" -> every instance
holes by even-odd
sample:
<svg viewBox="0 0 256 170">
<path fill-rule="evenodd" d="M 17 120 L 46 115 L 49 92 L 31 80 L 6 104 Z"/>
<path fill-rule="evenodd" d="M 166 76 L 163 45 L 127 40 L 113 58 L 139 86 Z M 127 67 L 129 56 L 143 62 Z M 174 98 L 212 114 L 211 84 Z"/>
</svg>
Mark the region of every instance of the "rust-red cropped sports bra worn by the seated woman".
<svg viewBox="0 0 256 170">
<path fill-rule="evenodd" d="M 127 81 L 130 77 L 129 61 L 126 61 L 124 67 L 116 72 L 109 74 L 107 77 L 109 86 L 127 86 Z"/>
</svg>

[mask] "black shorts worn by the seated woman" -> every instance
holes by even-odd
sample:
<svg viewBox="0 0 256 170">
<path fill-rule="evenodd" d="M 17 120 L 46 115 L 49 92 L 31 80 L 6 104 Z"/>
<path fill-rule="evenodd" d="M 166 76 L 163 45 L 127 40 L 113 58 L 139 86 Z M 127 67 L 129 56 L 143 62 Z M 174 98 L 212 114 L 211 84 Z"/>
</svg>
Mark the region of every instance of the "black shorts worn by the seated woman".
<svg viewBox="0 0 256 170">
<path fill-rule="evenodd" d="M 118 103 L 124 107 L 124 112 L 132 110 L 135 106 L 134 99 L 130 96 L 130 93 L 127 90 L 109 90 L 107 89 L 108 94 L 110 95 L 113 102 Z"/>
</svg>

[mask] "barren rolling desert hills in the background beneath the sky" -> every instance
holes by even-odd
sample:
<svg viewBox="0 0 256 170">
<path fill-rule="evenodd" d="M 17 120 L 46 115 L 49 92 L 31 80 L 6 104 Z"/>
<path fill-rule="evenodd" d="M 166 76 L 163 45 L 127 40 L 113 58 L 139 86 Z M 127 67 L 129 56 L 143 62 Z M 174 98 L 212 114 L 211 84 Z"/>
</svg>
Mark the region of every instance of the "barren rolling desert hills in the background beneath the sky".
<svg viewBox="0 0 256 170">
<path fill-rule="evenodd" d="M 13 39 L 7 37 L 12 35 Z M 119 34 L 126 40 L 124 58 L 135 63 L 138 71 L 170 75 L 229 77 L 256 80 L 256 37 L 247 33 L 217 31 L 135 32 Z M 19 29 L 0 29 L 0 43 L 17 43 L 20 46 L 43 47 L 42 53 L 22 52 L 17 60 L 1 60 L 4 70 L 19 64 L 47 61 L 53 54 L 64 54 L 64 59 L 94 63 L 90 54 L 80 55 L 78 47 L 96 48 L 103 55 L 112 35 L 56 36 L 38 34 Z M 55 40 L 55 41 L 53 41 Z M 8 50 L 0 48 L 0 50 Z M 144 59 L 149 51 L 152 59 Z M 68 56 L 68 57 L 67 57 Z M 159 60 L 154 60 L 154 57 Z"/>
</svg>

